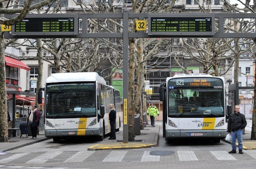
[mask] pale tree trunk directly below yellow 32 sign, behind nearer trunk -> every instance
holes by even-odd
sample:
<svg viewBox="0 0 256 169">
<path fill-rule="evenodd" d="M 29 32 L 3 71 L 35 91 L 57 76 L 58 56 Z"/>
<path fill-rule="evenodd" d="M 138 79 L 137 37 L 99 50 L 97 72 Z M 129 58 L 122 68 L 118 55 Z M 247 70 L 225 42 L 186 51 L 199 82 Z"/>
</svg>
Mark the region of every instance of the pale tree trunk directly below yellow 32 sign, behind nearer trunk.
<svg viewBox="0 0 256 169">
<path fill-rule="evenodd" d="M 144 63 L 143 61 L 143 45 L 142 39 L 139 38 L 137 41 L 137 87 L 135 96 L 135 113 L 140 114 L 140 129 L 143 129 L 143 118 L 142 118 L 142 87 L 144 83 Z"/>
</svg>

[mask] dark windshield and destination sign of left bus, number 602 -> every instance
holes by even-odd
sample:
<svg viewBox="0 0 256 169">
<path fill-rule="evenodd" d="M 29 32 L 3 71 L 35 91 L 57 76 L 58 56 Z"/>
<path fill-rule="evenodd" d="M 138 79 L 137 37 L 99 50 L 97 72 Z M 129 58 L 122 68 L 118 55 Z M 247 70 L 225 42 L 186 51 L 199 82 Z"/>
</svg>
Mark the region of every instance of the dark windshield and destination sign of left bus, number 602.
<svg viewBox="0 0 256 169">
<path fill-rule="evenodd" d="M 96 117 L 95 83 L 48 84 L 46 118 Z"/>
</svg>

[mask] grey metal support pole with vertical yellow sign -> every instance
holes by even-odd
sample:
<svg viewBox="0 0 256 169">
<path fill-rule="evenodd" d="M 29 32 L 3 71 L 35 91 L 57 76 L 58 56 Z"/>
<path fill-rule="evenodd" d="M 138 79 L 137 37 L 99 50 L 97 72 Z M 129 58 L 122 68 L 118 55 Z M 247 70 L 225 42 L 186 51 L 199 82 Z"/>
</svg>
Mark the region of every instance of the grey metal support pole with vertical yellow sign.
<svg viewBox="0 0 256 169">
<path fill-rule="evenodd" d="M 128 143 L 128 52 L 129 52 L 129 12 L 123 11 L 123 143 Z"/>
</svg>

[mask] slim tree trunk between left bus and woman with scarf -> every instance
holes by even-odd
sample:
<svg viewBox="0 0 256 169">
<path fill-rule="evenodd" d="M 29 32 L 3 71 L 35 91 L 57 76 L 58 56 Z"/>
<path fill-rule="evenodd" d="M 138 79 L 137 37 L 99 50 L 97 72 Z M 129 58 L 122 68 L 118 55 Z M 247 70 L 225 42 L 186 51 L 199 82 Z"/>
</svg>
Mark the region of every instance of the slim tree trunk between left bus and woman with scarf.
<svg viewBox="0 0 256 169">
<path fill-rule="evenodd" d="M 37 39 L 37 58 L 38 58 L 38 78 L 36 84 L 36 105 L 38 107 L 38 111 L 40 110 L 40 104 L 38 104 L 38 91 L 39 88 L 42 87 L 42 77 L 43 77 L 43 42 L 42 39 Z"/>
</svg>

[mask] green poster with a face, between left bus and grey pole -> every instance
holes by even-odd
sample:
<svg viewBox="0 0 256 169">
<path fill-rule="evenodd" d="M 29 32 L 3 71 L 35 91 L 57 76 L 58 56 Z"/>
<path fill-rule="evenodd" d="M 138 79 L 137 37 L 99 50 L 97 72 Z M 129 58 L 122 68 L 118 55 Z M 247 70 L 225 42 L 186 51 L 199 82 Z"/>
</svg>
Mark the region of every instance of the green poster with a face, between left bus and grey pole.
<svg viewBox="0 0 256 169">
<path fill-rule="evenodd" d="M 114 68 L 112 69 L 114 71 Z M 123 98 L 123 69 L 117 69 L 112 75 L 112 86 L 120 92 L 120 98 Z"/>
</svg>

